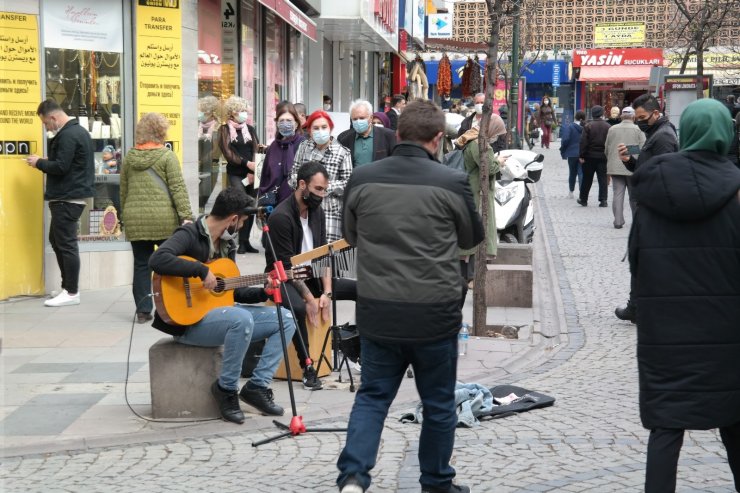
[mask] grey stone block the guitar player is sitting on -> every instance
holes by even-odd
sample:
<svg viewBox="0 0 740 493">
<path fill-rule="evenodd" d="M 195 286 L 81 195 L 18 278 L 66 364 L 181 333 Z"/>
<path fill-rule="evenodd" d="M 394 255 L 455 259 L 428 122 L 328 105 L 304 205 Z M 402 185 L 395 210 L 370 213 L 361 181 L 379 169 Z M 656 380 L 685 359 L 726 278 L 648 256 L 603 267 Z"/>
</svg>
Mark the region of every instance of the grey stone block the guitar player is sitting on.
<svg viewBox="0 0 740 493">
<path fill-rule="evenodd" d="M 219 418 L 211 385 L 221 373 L 223 346 L 197 347 L 164 337 L 149 348 L 152 416 Z"/>
</svg>

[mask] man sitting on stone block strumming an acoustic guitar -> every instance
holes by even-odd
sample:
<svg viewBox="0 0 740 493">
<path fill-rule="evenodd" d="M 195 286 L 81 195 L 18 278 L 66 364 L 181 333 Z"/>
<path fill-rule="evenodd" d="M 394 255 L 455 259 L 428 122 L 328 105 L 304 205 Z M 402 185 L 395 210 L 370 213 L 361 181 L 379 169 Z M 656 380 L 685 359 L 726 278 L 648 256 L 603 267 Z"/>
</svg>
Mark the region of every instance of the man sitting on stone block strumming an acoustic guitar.
<svg viewBox="0 0 740 493">
<path fill-rule="evenodd" d="M 254 199 L 238 187 L 222 190 L 209 215 L 179 227 L 149 260 L 155 273 L 157 307 L 152 325 L 182 344 L 224 346 L 221 375 L 213 382 L 211 392 L 223 419 L 239 424 L 244 422 L 239 399 L 263 414 L 283 415 L 283 408 L 274 402 L 270 389 L 272 377 L 283 357 L 276 308 L 244 305 L 266 301 L 267 293 L 263 288 L 240 287 L 233 290 L 236 304 L 213 308 L 200 321 L 190 325 L 176 325 L 172 323 L 175 314 L 168 314 L 161 303 L 163 290 L 158 287 L 161 288 L 162 281 L 157 276 L 181 278 L 187 293 L 204 289 L 222 292 L 224 280 L 217 277 L 218 273 L 214 273 L 208 263 L 218 259 L 234 260 L 239 229 L 249 217 L 247 208 L 253 205 Z M 192 278 L 200 278 L 201 282 L 192 282 Z M 295 332 L 295 323 L 290 312 L 282 310 L 285 338 L 290 339 Z M 264 339 L 266 342 L 259 364 L 239 391 L 242 360 L 249 343 Z"/>
</svg>

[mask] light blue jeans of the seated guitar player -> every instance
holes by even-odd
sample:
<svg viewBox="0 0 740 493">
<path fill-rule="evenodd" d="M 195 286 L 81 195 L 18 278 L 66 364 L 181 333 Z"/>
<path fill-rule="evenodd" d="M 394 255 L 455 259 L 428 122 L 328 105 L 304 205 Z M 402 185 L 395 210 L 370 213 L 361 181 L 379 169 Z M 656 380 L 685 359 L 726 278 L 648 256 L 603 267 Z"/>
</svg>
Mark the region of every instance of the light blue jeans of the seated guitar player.
<svg viewBox="0 0 740 493">
<path fill-rule="evenodd" d="M 285 339 L 290 341 L 295 332 L 295 322 L 288 310 L 282 308 Z M 269 387 L 272 377 L 283 358 L 280 327 L 274 306 L 235 305 L 214 308 L 197 324 L 191 325 L 175 340 L 191 346 L 224 346 L 224 359 L 218 384 L 224 390 L 239 390 L 242 361 L 250 341 L 267 339 L 250 382 L 259 387 Z"/>
</svg>

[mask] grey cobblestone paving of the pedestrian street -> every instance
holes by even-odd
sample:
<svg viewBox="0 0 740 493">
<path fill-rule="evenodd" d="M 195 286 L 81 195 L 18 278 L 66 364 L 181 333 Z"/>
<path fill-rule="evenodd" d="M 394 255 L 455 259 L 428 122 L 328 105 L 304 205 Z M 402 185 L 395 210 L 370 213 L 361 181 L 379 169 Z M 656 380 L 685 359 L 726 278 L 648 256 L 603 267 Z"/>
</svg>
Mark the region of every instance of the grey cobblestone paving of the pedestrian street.
<svg viewBox="0 0 740 493">
<path fill-rule="evenodd" d="M 613 229 L 611 208 L 583 208 L 567 199 L 566 163 L 557 150 L 545 152 L 537 190 L 540 232 L 552 252 L 569 340 L 551 360 L 507 380 L 551 394 L 557 402 L 459 429 L 453 457 L 458 481 L 476 493 L 640 491 L 648 433 L 638 414 L 635 329 L 613 315 L 628 291 L 627 266 L 620 260 L 629 228 Z M 402 410 L 393 409 L 386 423 L 370 491 L 419 491 L 419 430 L 395 419 Z M 336 491 L 343 434 L 251 446 L 273 433 L 6 459 L 4 491 Z M 733 491 L 716 433 L 687 434 L 678 491 Z"/>
</svg>

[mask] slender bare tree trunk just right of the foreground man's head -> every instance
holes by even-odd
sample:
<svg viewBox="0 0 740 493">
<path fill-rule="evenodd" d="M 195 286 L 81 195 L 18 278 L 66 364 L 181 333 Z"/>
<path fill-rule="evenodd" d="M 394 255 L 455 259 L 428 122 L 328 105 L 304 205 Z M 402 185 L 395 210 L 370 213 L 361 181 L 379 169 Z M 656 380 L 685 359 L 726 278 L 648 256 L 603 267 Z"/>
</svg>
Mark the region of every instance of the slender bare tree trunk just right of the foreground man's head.
<svg viewBox="0 0 740 493">
<path fill-rule="evenodd" d="M 485 239 L 478 245 L 475 251 L 475 278 L 473 280 L 473 335 L 482 336 L 486 334 L 486 273 L 488 271 L 488 251 L 486 245 L 488 238 L 495 235 L 496 231 L 488 231 L 488 204 L 492 197 L 488 193 L 488 170 L 491 163 L 488 162 L 489 148 L 488 139 L 483 129 L 488 127 L 491 119 L 493 106 L 493 94 L 496 89 L 496 67 L 498 60 L 498 40 L 500 30 L 500 19 L 503 12 L 504 0 L 488 0 L 488 15 L 491 20 L 491 36 L 488 40 L 488 52 L 486 59 L 486 100 L 483 103 L 483 118 L 480 122 L 480 133 L 478 134 L 478 148 L 480 149 L 480 215 L 483 228 L 486 232 Z"/>
</svg>

